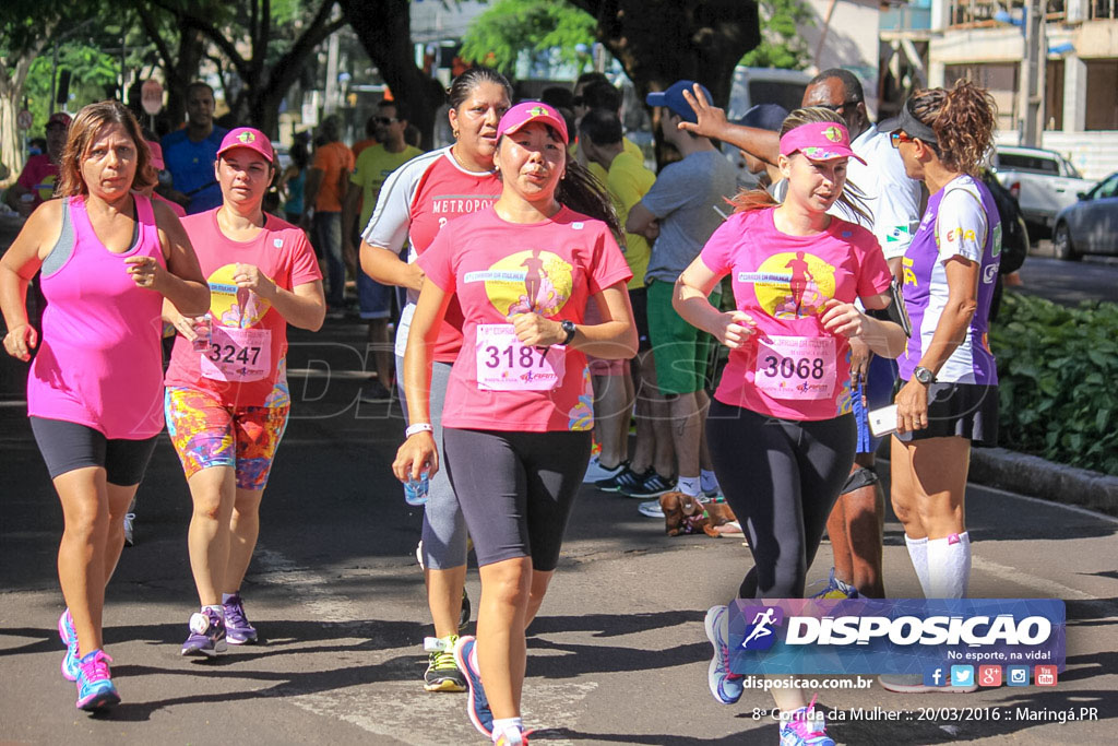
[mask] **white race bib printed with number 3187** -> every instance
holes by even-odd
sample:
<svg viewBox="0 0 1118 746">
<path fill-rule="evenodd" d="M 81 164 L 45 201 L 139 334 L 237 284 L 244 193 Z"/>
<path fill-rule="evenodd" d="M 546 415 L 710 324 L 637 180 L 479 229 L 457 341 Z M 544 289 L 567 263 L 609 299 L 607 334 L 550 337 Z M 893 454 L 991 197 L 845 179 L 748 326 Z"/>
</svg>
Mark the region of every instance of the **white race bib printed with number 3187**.
<svg viewBox="0 0 1118 746">
<path fill-rule="evenodd" d="M 512 324 L 479 324 L 476 350 L 483 391 L 548 391 L 562 381 L 567 348 L 522 344 Z"/>
</svg>

